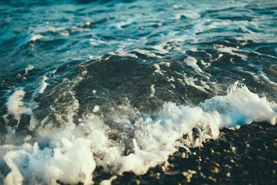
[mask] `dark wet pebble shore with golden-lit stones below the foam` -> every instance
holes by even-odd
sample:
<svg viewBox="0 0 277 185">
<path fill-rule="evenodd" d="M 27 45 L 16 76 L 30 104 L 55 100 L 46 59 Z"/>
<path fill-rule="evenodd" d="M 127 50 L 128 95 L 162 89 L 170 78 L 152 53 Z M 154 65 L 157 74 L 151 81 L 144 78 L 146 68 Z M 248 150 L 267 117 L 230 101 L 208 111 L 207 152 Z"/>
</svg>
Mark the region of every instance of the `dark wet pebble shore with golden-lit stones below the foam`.
<svg viewBox="0 0 277 185">
<path fill-rule="evenodd" d="M 123 173 L 112 184 L 277 184 L 276 131 L 276 125 L 267 123 L 224 128 L 219 139 L 190 148 L 191 153 L 180 148 L 145 175 Z M 96 184 L 109 178 L 97 171 Z"/>
</svg>

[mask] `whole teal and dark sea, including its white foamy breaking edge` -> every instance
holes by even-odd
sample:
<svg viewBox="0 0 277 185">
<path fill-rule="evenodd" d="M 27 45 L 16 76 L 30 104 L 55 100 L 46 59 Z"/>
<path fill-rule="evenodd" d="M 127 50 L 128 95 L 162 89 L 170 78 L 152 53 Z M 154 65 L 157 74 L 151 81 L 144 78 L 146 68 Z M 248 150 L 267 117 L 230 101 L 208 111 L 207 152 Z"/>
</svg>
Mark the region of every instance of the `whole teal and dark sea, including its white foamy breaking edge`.
<svg viewBox="0 0 277 185">
<path fill-rule="evenodd" d="M 8 1 L 0 17 L 0 184 L 143 174 L 222 127 L 276 123 L 276 1 Z"/>
</svg>

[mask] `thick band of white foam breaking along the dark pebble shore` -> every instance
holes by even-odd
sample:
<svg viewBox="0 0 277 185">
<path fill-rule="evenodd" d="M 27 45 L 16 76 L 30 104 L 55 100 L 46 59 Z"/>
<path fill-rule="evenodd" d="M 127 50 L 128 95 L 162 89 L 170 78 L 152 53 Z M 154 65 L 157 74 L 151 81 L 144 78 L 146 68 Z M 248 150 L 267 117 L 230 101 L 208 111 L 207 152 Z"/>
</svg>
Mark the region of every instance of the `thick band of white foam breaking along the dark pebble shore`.
<svg viewBox="0 0 277 185">
<path fill-rule="evenodd" d="M 22 90 L 17 94 L 20 98 L 15 99 L 21 100 Z M 129 104 L 119 108 L 123 112 L 134 112 Z M 132 125 L 133 136 L 125 138 L 132 141 L 134 152 L 123 155 L 127 146 L 124 142 L 109 139 L 109 133 L 114 130 L 101 118 L 88 114 L 75 125 L 73 116 L 78 101 L 74 100 L 66 109 L 66 122 L 57 114 L 57 121 L 63 123 L 60 128 L 45 124 L 47 118 L 41 123 L 35 138 L 37 142 L 0 146 L 0 157 L 11 169 L 5 184 L 55 184 L 56 180 L 68 184 L 93 184 L 92 173 L 96 165 L 112 173 L 132 170 L 143 174 L 151 166 L 166 161 L 177 147 L 202 146 L 206 139 L 217 138 L 222 127 L 253 121 L 275 124 L 277 118 L 276 103 L 259 98 L 236 82 L 229 87 L 226 96 L 214 96 L 198 106 L 169 102 L 163 105 L 155 119 L 148 115 L 139 116 Z M 130 123 L 123 121 L 120 124 Z M 193 136 L 193 128 L 199 131 L 198 138 Z"/>
</svg>

